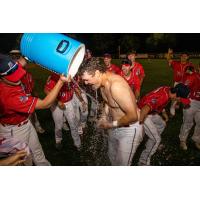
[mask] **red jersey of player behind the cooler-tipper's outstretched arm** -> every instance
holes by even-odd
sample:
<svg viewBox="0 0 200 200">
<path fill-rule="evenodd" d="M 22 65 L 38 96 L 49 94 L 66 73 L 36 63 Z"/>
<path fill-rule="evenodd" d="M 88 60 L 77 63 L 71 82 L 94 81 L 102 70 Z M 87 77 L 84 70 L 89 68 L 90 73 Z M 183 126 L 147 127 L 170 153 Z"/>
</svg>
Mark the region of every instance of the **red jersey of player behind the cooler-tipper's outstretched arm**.
<svg viewBox="0 0 200 200">
<path fill-rule="evenodd" d="M 59 78 L 60 78 L 59 75 L 52 74 L 46 82 L 45 89 L 51 91 L 56 85 Z M 57 100 L 61 101 L 62 103 L 70 101 L 73 97 L 75 87 L 76 87 L 75 84 L 73 84 L 72 82 L 65 83 L 62 86 L 60 92 L 58 93 Z"/>
</svg>

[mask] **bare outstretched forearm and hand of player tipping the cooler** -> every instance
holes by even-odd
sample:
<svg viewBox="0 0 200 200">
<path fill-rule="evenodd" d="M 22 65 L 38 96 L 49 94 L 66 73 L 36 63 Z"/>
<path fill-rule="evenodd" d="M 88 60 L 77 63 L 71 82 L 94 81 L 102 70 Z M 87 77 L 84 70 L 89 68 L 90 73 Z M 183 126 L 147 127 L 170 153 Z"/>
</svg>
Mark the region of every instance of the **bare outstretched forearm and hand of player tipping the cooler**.
<svg viewBox="0 0 200 200">
<path fill-rule="evenodd" d="M 65 82 L 68 82 L 70 77 L 68 76 L 67 78 L 64 76 L 60 76 L 60 79 L 56 83 L 55 87 L 49 92 L 49 94 L 43 99 L 38 99 L 35 109 L 46 109 L 49 108 L 52 103 L 56 100 L 58 93 L 60 89 L 62 88 L 63 84 Z"/>
</svg>

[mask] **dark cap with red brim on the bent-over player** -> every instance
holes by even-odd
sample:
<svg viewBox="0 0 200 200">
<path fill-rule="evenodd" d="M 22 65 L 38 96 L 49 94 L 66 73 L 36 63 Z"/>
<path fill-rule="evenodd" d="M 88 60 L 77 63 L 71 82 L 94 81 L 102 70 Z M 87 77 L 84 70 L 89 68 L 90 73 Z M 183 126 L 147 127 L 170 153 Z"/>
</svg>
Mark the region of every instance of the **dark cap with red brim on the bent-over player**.
<svg viewBox="0 0 200 200">
<path fill-rule="evenodd" d="M 187 85 L 183 83 L 177 84 L 174 88 L 171 89 L 172 93 L 176 93 L 177 97 L 180 97 L 180 102 L 188 105 L 190 104 L 190 99 L 188 98 L 190 94 L 190 89 Z"/>
</svg>

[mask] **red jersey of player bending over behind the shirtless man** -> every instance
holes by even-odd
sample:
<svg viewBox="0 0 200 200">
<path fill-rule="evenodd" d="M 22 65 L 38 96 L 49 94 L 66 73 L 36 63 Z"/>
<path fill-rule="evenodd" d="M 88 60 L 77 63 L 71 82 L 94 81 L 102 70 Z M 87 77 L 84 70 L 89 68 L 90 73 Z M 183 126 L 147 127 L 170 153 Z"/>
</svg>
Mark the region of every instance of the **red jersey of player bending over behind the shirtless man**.
<svg viewBox="0 0 200 200">
<path fill-rule="evenodd" d="M 151 109 L 150 113 L 161 113 L 169 102 L 169 90 L 170 87 L 167 86 L 162 86 L 153 90 L 140 99 L 138 107 L 142 109 L 145 105 L 148 105 Z"/>
</svg>

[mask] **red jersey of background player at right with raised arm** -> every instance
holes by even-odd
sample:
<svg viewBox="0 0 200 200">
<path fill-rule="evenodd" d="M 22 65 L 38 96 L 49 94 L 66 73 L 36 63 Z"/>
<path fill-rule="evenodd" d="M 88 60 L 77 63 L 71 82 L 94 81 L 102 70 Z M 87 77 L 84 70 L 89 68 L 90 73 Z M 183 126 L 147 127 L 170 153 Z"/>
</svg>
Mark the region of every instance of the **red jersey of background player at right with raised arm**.
<svg viewBox="0 0 200 200">
<path fill-rule="evenodd" d="M 183 64 L 180 61 L 174 61 L 174 60 L 170 64 L 173 69 L 174 82 L 182 82 L 183 75 L 185 73 L 185 68 L 189 65 L 192 65 L 192 63 L 190 62 Z"/>
</svg>

